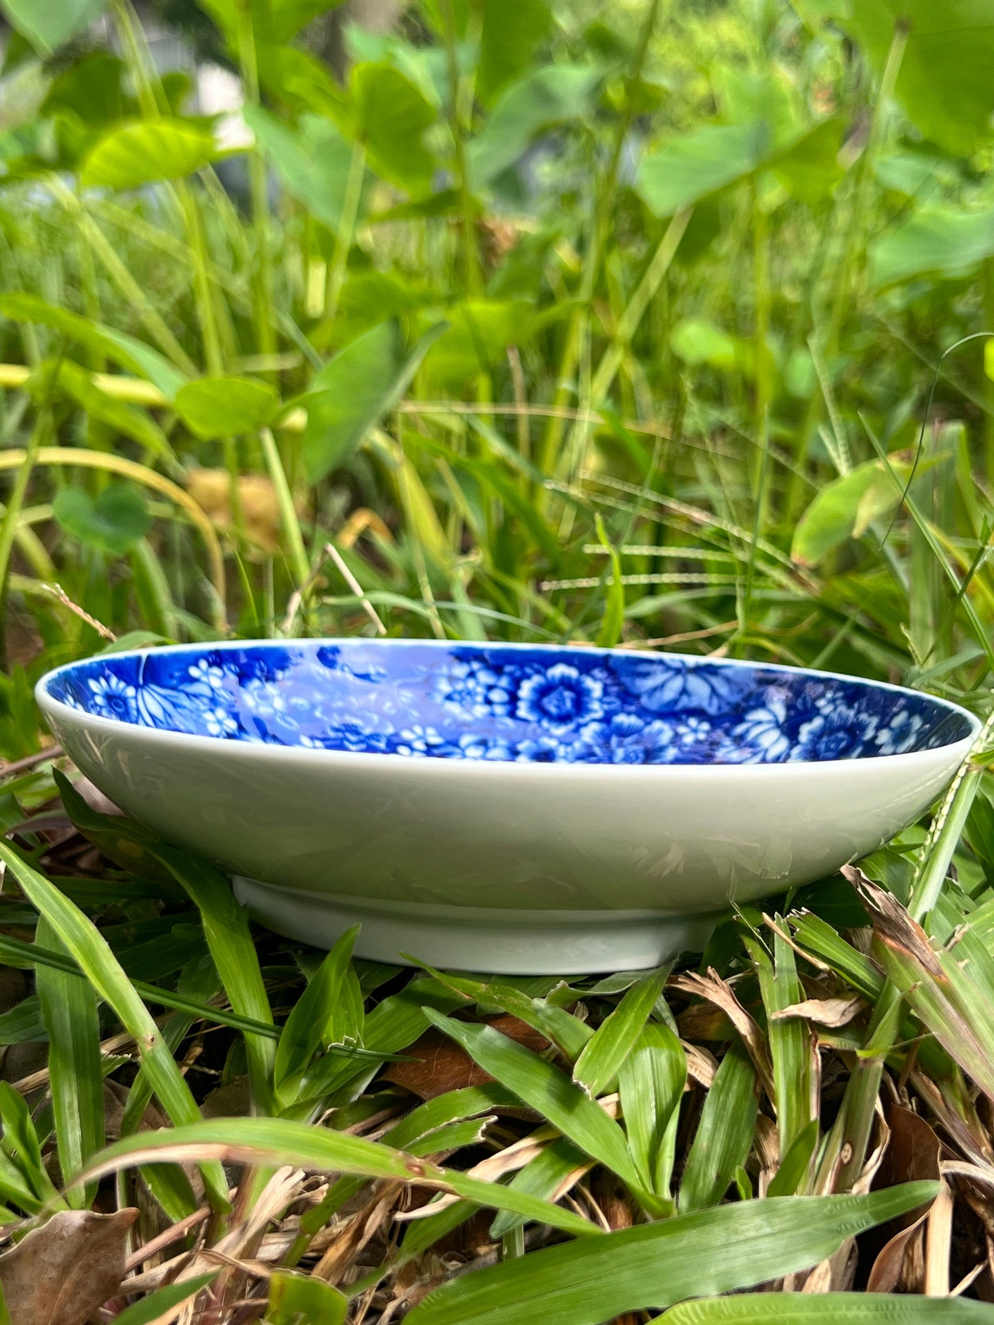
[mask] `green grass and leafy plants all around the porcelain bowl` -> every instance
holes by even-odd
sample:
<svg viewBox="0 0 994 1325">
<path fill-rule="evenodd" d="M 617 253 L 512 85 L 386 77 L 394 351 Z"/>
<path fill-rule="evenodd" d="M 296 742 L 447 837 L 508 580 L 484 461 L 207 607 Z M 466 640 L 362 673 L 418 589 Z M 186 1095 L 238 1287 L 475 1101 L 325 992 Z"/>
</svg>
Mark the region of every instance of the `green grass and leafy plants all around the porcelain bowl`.
<svg viewBox="0 0 994 1325">
<path fill-rule="evenodd" d="M 91 1304 L 125 1325 L 990 1317 L 987 729 L 861 873 L 570 984 L 249 929 L 73 792 L 30 684 L 386 632 L 798 662 L 986 719 L 994 7 L 940 40 L 888 0 L 424 0 L 347 26 L 339 82 L 327 5 L 212 0 L 229 160 L 127 0 L 118 54 L 56 8 L 5 0 L 0 70 L 9 1238 L 138 1208 L 138 1277 Z"/>
</svg>

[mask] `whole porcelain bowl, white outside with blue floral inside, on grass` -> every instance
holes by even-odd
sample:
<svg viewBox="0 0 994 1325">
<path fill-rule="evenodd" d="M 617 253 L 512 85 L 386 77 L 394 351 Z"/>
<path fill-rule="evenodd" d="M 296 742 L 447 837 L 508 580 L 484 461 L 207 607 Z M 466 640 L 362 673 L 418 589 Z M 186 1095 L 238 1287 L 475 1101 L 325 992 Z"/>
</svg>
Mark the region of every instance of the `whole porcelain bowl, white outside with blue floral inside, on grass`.
<svg viewBox="0 0 994 1325">
<path fill-rule="evenodd" d="M 656 965 L 729 902 L 875 849 L 941 794 L 962 709 L 824 672 L 423 640 L 179 645 L 38 702 L 82 771 L 272 929 L 508 974 Z"/>
</svg>

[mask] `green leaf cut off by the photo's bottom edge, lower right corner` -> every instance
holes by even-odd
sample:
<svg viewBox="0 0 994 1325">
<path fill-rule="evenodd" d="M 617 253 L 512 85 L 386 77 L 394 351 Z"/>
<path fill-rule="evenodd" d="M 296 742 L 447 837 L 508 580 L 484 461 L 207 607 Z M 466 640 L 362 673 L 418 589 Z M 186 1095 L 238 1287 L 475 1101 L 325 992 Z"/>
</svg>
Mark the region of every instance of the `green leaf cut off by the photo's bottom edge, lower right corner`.
<svg viewBox="0 0 994 1325">
<path fill-rule="evenodd" d="M 994 1308 L 965 1297 L 914 1293 L 742 1293 L 681 1302 L 665 1325 L 990 1325 Z"/>
</svg>

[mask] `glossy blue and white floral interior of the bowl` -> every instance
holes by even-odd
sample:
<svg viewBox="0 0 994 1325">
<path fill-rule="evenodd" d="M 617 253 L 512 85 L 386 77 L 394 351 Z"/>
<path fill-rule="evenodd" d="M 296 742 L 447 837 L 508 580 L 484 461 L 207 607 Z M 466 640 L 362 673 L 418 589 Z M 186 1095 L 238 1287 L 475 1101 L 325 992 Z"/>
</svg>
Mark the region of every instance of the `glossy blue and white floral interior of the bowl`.
<svg viewBox="0 0 994 1325">
<path fill-rule="evenodd" d="M 926 694 L 672 653 L 341 640 L 183 647 L 62 668 L 53 698 L 188 735 L 411 759 L 789 763 L 970 734 Z"/>
</svg>

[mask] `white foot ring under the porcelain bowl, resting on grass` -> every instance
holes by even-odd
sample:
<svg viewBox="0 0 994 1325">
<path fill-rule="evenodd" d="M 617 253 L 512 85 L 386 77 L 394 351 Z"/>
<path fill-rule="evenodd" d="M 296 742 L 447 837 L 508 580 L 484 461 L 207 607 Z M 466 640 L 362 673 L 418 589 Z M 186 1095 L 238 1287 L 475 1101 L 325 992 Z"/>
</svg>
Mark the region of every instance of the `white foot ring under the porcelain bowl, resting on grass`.
<svg viewBox="0 0 994 1325">
<path fill-rule="evenodd" d="M 649 910 L 497 910 L 384 902 L 235 878 L 235 896 L 266 929 L 331 947 L 362 925 L 355 955 L 412 966 L 500 975 L 594 975 L 659 966 L 702 951 L 718 920 Z M 404 958 L 402 953 L 410 954 Z"/>
</svg>

